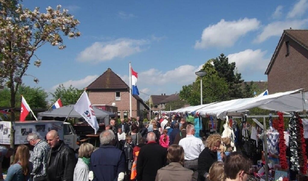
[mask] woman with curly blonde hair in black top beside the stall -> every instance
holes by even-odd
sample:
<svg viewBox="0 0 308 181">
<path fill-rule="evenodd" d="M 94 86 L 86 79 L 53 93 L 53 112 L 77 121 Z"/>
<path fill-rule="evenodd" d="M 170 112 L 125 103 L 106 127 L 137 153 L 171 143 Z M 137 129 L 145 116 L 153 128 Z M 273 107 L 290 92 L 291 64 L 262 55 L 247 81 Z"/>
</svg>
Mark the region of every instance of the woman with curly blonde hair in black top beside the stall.
<svg viewBox="0 0 308 181">
<path fill-rule="evenodd" d="M 217 162 L 217 149 L 221 144 L 221 136 L 209 135 L 205 142 L 205 149 L 198 157 L 198 181 L 203 181 L 209 176 L 210 167 Z"/>
</svg>

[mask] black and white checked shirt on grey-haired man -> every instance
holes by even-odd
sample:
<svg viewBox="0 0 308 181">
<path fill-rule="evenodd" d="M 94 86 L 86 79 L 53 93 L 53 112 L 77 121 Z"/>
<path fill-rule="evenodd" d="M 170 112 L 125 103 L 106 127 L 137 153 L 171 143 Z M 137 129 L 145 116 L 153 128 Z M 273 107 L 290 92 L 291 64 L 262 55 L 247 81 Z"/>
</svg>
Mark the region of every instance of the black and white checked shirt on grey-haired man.
<svg viewBox="0 0 308 181">
<path fill-rule="evenodd" d="M 31 172 L 31 175 L 34 175 L 33 178 L 47 175 L 47 155 L 49 149 L 50 148 L 44 139 L 39 140 L 39 142 L 34 145 L 30 157 L 30 161 L 33 164 L 33 170 Z"/>
</svg>

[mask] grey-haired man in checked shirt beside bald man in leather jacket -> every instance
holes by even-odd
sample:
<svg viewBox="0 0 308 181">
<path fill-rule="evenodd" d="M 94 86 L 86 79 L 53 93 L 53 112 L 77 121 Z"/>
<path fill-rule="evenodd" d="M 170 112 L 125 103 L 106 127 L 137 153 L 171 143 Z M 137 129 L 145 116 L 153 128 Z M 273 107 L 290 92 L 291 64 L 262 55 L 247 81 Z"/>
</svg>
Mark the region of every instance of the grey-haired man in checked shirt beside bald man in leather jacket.
<svg viewBox="0 0 308 181">
<path fill-rule="evenodd" d="M 30 161 L 33 164 L 31 177 L 33 181 L 47 180 L 49 146 L 45 139 L 40 139 L 36 133 L 29 133 L 27 141 L 34 146 Z"/>
</svg>

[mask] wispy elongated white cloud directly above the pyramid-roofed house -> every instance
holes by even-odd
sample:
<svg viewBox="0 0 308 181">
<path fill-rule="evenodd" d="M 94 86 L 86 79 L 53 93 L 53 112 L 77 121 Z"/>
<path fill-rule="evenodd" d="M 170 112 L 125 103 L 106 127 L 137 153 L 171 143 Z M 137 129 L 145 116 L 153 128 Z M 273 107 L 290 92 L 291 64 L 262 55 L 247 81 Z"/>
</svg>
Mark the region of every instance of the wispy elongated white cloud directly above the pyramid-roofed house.
<svg viewBox="0 0 308 181">
<path fill-rule="evenodd" d="M 95 42 L 79 53 L 77 60 L 104 62 L 113 58 L 124 58 L 144 50 L 148 40 L 120 38 L 111 42 Z"/>
</svg>

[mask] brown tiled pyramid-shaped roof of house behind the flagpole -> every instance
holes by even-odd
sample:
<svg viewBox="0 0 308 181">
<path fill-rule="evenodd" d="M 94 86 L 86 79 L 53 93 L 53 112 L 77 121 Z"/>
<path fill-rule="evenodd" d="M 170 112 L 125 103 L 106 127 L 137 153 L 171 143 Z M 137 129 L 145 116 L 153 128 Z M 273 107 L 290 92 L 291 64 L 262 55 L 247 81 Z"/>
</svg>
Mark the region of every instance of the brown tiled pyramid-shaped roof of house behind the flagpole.
<svg viewBox="0 0 308 181">
<path fill-rule="evenodd" d="M 128 89 L 129 86 L 110 68 L 96 78 L 87 90 L 104 90 L 104 89 Z"/>
</svg>

